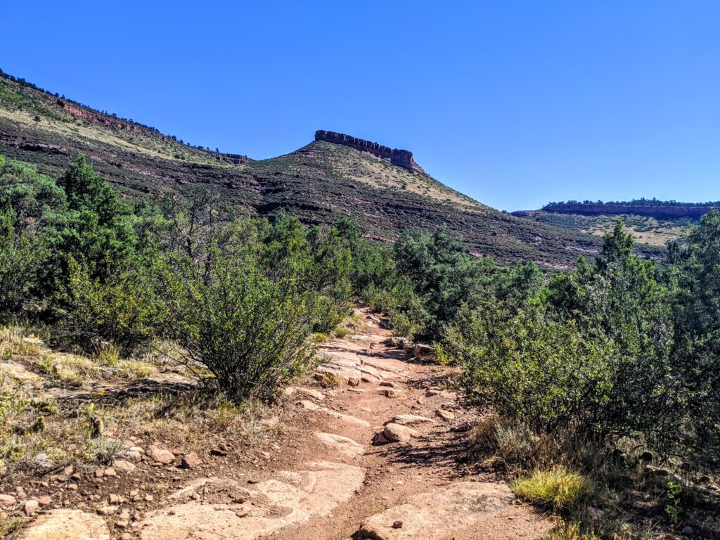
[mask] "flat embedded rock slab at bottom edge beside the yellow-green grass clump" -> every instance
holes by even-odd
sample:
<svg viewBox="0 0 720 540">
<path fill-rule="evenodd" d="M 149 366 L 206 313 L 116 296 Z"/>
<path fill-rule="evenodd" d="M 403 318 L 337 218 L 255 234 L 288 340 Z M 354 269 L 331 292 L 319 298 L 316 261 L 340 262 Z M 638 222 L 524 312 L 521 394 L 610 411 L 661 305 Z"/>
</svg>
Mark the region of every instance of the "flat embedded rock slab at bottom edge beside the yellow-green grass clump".
<svg viewBox="0 0 720 540">
<path fill-rule="evenodd" d="M 445 540 L 482 519 L 492 518 L 512 503 L 513 493 L 506 485 L 456 482 L 411 495 L 407 503 L 370 516 L 354 538 Z M 395 528 L 394 523 L 402 526 Z"/>
</svg>

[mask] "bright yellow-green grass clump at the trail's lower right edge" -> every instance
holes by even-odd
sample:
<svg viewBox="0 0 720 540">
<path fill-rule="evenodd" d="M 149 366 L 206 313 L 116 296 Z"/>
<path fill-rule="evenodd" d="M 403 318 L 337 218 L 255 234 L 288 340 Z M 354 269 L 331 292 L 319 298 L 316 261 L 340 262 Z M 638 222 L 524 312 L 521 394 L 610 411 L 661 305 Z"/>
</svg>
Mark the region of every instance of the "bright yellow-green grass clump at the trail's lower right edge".
<svg viewBox="0 0 720 540">
<path fill-rule="evenodd" d="M 510 487 L 519 497 L 556 511 L 577 508 L 593 494 L 593 482 L 565 467 L 536 469 Z"/>
</svg>

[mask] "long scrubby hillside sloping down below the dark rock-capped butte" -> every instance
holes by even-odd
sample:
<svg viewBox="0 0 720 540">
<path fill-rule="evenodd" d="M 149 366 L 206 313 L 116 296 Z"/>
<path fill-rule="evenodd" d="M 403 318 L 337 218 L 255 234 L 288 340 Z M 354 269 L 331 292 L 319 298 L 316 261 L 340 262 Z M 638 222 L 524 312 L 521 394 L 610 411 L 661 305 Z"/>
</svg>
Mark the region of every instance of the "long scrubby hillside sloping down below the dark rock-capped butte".
<svg viewBox="0 0 720 540">
<path fill-rule="evenodd" d="M 348 145 L 315 140 L 287 155 L 253 161 L 186 145 L 7 76 L 0 78 L 0 153 L 50 175 L 84 153 L 127 196 L 209 188 L 248 210 L 284 210 L 307 223 L 350 217 L 367 237 L 379 240 L 390 241 L 404 228 L 445 226 L 462 235 L 475 255 L 505 262 L 563 268 L 577 253 L 596 253 L 599 246 L 593 235 L 498 212 L 419 166 L 409 170 Z"/>
</svg>

